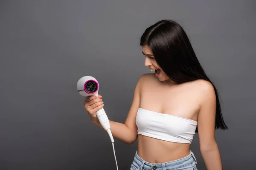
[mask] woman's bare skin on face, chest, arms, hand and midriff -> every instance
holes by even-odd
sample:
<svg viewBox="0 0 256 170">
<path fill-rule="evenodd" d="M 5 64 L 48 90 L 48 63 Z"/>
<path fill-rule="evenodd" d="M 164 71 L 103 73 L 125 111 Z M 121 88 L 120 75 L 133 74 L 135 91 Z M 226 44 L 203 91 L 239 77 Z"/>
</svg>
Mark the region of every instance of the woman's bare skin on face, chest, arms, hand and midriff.
<svg viewBox="0 0 256 170">
<path fill-rule="evenodd" d="M 160 68 L 151 49 L 142 48 L 145 66 Z M 152 97 L 153 96 L 153 97 Z M 103 129 L 95 113 L 102 108 L 102 96 L 90 96 L 84 108 L 93 123 Z M 215 141 L 216 98 L 212 85 L 202 79 L 177 85 L 161 70 L 160 77 L 143 74 L 137 82 L 134 99 L 125 123 L 110 121 L 113 137 L 126 144 L 138 139 L 138 155 L 150 163 L 163 163 L 189 155 L 190 144 L 175 143 L 137 135 L 135 123 L 138 108 L 163 114 L 171 114 L 198 122 L 200 152 L 207 170 L 222 170 L 221 156 Z"/>
</svg>

